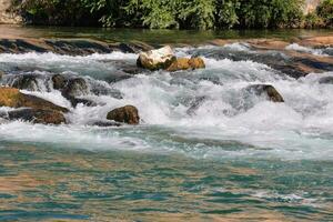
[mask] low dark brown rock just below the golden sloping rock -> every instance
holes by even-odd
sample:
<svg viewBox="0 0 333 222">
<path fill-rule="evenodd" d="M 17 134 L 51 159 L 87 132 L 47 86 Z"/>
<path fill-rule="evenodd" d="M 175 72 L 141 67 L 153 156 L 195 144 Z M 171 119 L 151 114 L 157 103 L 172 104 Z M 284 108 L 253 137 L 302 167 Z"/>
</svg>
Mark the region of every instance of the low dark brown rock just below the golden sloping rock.
<svg viewBox="0 0 333 222">
<path fill-rule="evenodd" d="M 56 110 L 19 109 L 8 112 L 10 120 L 23 120 L 32 123 L 62 124 L 65 123 L 63 113 Z"/>
</svg>

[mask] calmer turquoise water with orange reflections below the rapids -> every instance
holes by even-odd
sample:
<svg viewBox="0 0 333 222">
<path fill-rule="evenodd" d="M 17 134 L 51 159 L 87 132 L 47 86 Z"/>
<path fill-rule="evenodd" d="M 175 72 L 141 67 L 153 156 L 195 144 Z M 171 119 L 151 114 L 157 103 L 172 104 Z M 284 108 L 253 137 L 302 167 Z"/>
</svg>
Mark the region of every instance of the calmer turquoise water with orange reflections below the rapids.
<svg viewBox="0 0 333 222">
<path fill-rule="evenodd" d="M 332 161 L 198 160 L 4 141 L 0 153 L 0 221 L 333 219 Z"/>
</svg>

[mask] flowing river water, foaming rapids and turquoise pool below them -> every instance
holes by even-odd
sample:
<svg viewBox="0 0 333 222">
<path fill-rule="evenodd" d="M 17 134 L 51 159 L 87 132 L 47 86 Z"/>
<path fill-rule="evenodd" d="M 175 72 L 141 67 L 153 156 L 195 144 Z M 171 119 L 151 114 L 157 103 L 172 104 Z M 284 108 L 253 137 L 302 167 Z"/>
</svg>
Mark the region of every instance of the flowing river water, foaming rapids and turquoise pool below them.
<svg viewBox="0 0 333 222">
<path fill-rule="evenodd" d="M 206 69 L 115 80 L 138 54 L 0 54 L 2 84 L 38 75 L 36 91 L 23 92 L 71 111 L 68 125 L 0 124 L 0 221 L 333 221 L 333 84 L 320 84 L 333 70 L 293 79 L 226 59 L 256 53 L 241 42 L 175 51 L 201 56 Z M 82 98 L 98 105 L 72 108 L 52 89 L 54 73 L 84 78 Z M 285 102 L 245 90 L 260 83 Z M 140 125 L 90 125 L 125 104 L 139 109 Z"/>
</svg>

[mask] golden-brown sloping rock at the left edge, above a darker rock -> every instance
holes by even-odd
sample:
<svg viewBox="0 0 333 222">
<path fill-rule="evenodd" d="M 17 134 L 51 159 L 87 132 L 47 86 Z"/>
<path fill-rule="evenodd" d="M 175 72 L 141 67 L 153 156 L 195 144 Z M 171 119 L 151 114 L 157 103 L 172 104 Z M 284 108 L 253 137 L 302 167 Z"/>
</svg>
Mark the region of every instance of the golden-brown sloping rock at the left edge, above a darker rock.
<svg viewBox="0 0 333 222">
<path fill-rule="evenodd" d="M 0 107 L 32 108 L 68 112 L 67 108 L 59 107 L 41 98 L 23 94 L 14 88 L 0 88 Z"/>
</svg>

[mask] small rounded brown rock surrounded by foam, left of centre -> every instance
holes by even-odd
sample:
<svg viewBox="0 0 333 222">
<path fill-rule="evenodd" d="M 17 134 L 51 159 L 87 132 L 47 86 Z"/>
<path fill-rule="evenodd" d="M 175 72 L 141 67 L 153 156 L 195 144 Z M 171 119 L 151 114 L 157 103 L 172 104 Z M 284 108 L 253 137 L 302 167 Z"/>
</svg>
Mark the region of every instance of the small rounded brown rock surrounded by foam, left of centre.
<svg viewBox="0 0 333 222">
<path fill-rule="evenodd" d="M 139 111 L 133 105 L 114 109 L 108 113 L 107 119 L 128 124 L 139 124 L 140 122 Z"/>
</svg>

